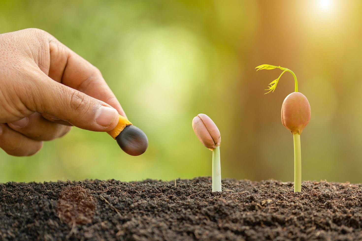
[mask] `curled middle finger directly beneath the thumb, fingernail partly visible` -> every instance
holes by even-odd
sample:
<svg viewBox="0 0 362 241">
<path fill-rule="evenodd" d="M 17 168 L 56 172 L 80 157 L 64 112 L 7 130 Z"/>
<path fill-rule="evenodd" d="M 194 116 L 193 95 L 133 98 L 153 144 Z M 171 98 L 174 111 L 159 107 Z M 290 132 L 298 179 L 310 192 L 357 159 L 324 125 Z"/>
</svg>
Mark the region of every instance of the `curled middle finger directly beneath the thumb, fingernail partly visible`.
<svg viewBox="0 0 362 241">
<path fill-rule="evenodd" d="M 71 129 L 65 126 L 48 121 L 38 112 L 24 117 L 21 120 L 8 123 L 8 126 L 17 132 L 37 141 L 50 141 L 62 137 Z"/>
</svg>

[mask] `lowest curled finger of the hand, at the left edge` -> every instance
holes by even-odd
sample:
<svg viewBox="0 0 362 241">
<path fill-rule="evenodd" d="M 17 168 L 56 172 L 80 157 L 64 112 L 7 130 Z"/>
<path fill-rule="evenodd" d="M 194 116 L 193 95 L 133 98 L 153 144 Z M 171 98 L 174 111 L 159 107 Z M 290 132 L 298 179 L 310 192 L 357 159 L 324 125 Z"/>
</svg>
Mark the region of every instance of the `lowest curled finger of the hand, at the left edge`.
<svg viewBox="0 0 362 241">
<path fill-rule="evenodd" d="M 13 156 L 31 156 L 37 153 L 43 142 L 32 140 L 6 124 L 0 124 L 0 148 Z"/>
</svg>

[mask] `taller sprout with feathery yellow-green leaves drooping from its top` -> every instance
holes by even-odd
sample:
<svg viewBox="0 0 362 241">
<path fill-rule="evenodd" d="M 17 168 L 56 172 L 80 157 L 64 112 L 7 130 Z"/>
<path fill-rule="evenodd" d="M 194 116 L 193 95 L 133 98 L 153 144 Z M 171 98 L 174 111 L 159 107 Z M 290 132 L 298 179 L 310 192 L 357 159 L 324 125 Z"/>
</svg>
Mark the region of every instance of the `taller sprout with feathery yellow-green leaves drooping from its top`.
<svg viewBox="0 0 362 241">
<path fill-rule="evenodd" d="M 281 66 L 274 66 L 269 64 L 262 64 L 256 67 L 256 71 L 260 69 L 281 69 L 283 72 L 280 76 L 274 81 L 270 82 L 268 88 L 269 90 L 265 94 L 268 94 L 270 91 L 274 92 L 277 87 L 280 77 L 285 72 L 289 72 L 294 77 L 295 83 L 295 92 L 287 95 L 282 104 L 282 124 L 285 128 L 290 130 L 293 134 L 294 140 L 294 192 L 301 190 L 302 185 L 302 157 L 300 153 L 300 134 L 302 133 L 304 127 L 308 124 L 311 119 L 311 106 L 309 102 L 302 93 L 298 92 L 298 82 L 296 80 L 295 74 L 287 68 L 282 68 Z"/>
</svg>

